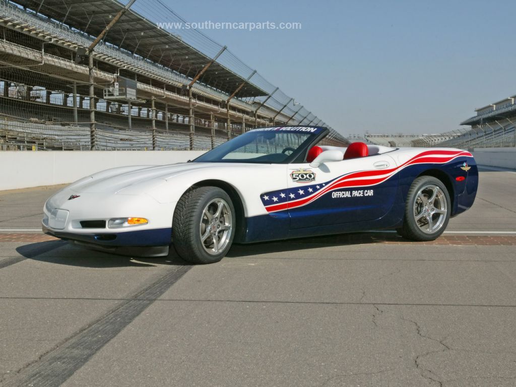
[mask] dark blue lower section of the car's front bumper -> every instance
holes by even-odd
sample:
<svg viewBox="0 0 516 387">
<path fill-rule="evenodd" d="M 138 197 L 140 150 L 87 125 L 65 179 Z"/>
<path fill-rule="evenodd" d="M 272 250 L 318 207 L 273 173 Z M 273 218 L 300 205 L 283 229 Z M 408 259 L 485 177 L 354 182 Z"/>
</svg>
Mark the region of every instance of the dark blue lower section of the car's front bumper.
<svg viewBox="0 0 516 387">
<path fill-rule="evenodd" d="M 53 230 L 42 224 L 47 235 L 70 240 L 87 248 L 121 255 L 164 256 L 168 255 L 172 228 L 146 229 L 124 232 L 72 233 Z"/>
</svg>

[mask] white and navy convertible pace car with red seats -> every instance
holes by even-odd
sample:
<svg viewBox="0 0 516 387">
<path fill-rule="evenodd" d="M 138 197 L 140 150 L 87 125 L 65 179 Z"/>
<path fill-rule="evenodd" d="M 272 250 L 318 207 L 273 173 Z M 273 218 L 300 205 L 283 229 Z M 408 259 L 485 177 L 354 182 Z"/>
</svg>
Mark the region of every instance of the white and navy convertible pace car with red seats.
<svg viewBox="0 0 516 387">
<path fill-rule="evenodd" d="M 442 234 L 475 200 L 478 171 L 459 149 L 318 145 L 316 126 L 249 131 L 188 163 L 94 173 L 44 206 L 43 231 L 104 251 L 212 263 L 233 241 L 395 229 Z"/>
</svg>

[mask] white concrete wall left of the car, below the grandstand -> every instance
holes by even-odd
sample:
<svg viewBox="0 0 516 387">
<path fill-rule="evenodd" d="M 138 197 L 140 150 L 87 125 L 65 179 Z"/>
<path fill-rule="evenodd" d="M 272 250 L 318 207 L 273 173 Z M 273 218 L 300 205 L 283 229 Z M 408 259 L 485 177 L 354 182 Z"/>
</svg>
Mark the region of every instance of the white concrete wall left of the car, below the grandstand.
<svg viewBox="0 0 516 387">
<path fill-rule="evenodd" d="M 128 165 L 184 163 L 204 151 L 0 151 L 0 190 L 72 183 Z"/>
</svg>

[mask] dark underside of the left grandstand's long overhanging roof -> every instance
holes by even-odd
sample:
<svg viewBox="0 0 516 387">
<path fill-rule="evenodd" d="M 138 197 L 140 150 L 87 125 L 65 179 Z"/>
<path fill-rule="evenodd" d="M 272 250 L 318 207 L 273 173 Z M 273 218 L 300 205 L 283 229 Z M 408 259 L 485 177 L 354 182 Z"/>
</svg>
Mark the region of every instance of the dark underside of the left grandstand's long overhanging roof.
<svg viewBox="0 0 516 387">
<path fill-rule="evenodd" d="M 15 0 L 16 3 L 63 22 L 89 35 L 98 36 L 112 18 L 124 8 L 116 0 Z M 150 20 L 130 9 L 108 31 L 105 41 L 150 59 L 164 67 L 195 76 L 213 58 L 201 53 L 180 36 L 160 29 Z M 217 89 L 227 87 L 233 93 L 246 78 L 214 62 L 203 75 L 202 82 Z M 268 92 L 248 82 L 237 98 L 267 95 Z"/>
</svg>

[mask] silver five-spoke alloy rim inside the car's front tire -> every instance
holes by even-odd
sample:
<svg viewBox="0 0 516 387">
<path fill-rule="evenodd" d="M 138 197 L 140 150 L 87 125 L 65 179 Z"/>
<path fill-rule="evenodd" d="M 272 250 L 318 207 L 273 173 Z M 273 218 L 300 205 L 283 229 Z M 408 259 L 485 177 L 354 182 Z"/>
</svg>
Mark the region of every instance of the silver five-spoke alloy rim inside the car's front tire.
<svg viewBox="0 0 516 387">
<path fill-rule="evenodd" d="M 217 255 L 228 245 L 233 232 L 233 219 L 228 203 L 213 199 L 204 207 L 201 217 L 201 244 L 211 255 Z"/>
</svg>

